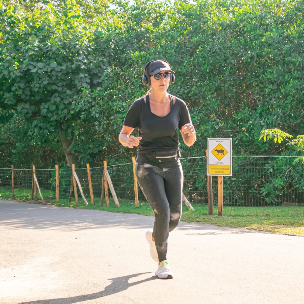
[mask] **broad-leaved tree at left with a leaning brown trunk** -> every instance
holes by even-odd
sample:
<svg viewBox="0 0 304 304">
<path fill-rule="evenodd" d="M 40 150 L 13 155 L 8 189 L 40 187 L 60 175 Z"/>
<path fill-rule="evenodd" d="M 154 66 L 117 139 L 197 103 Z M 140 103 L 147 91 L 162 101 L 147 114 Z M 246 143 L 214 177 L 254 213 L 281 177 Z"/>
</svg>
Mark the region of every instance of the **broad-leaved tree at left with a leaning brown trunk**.
<svg viewBox="0 0 304 304">
<path fill-rule="evenodd" d="M 79 113 L 77 97 L 82 88 L 96 88 L 108 66 L 105 54 L 95 53 L 95 29 L 85 22 L 79 5 L 58 3 L 39 2 L 27 11 L 22 3 L 2 8 L 0 98 L 6 121 L 17 112 L 36 129 L 33 143 L 59 134 L 71 165 L 78 137 L 92 134 L 92 109 L 88 104 Z"/>
</svg>

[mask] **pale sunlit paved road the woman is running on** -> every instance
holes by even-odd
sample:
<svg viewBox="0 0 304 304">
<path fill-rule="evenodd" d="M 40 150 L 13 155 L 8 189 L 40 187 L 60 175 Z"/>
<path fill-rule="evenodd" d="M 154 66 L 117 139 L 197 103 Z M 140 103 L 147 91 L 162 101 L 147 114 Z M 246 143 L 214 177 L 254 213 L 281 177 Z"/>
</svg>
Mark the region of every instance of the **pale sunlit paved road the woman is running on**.
<svg viewBox="0 0 304 304">
<path fill-rule="evenodd" d="M 180 223 L 154 276 L 153 218 L 0 201 L 0 303 L 304 303 L 304 238 Z"/>
</svg>

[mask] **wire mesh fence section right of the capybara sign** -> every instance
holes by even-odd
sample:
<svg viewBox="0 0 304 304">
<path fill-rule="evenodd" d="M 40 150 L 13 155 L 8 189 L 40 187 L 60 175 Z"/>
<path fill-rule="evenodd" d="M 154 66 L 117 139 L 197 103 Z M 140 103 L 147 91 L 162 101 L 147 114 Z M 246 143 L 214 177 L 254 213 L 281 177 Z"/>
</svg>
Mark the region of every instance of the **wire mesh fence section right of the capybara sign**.
<svg viewBox="0 0 304 304">
<path fill-rule="evenodd" d="M 304 166 L 295 158 L 233 157 L 233 176 L 224 179 L 225 212 L 270 217 L 303 214 Z"/>
</svg>

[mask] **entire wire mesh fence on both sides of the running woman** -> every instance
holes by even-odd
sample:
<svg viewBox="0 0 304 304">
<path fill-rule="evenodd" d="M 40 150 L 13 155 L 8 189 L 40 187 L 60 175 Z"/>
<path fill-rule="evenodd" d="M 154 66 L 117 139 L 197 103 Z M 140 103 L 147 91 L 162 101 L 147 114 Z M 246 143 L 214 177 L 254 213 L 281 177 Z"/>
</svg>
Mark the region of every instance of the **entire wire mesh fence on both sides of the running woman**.
<svg viewBox="0 0 304 304">
<path fill-rule="evenodd" d="M 304 166 L 295 157 L 234 156 L 233 175 L 223 179 L 223 215 L 233 216 L 297 216 L 304 212 Z M 184 171 L 183 193 L 192 206 L 208 212 L 206 157 L 182 158 Z M 90 168 L 94 197 L 101 196 L 103 167 Z M 118 199 L 134 204 L 133 164 L 108 165 Z M 90 204 L 87 168 L 77 168 L 81 188 Z M 68 198 L 72 170 L 59 170 L 60 198 Z M 32 169 L 14 169 L 15 189 L 31 192 Z M 37 169 L 40 188 L 48 199 L 55 199 L 55 169 Z M 0 168 L 1 189 L 12 187 L 12 169 Z M 217 208 L 217 177 L 213 177 L 213 204 Z M 79 190 L 78 190 L 79 191 Z M 78 193 L 80 195 L 80 193 Z M 111 193 L 109 192 L 109 196 Z M 140 201 L 145 197 L 138 188 Z"/>
</svg>

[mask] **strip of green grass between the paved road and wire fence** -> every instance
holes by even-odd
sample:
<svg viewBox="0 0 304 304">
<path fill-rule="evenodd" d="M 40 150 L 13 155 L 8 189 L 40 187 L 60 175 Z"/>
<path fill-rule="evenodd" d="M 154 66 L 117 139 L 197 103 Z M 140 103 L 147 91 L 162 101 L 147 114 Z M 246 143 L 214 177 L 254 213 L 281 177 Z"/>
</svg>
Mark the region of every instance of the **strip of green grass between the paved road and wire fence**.
<svg viewBox="0 0 304 304">
<path fill-rule="evenodd" d="M 10 189 L 0 189 L 0 199 L 11 199 L 12 192 Z M 146 216 L 153 216 L 153 212 L 147 202 L 141 202 L 139 207 L 135 207 L 133 201 L 120 200 L 120 208 L 117 208 L 114 201 L 110 199 L 109 207 L 100 206 L 100 198 L 95 197 L 95 206 L 92 206 L 90 199 L 87 198 L 89 205 L 86 206 L 82 199 L 78 199 L 75 204 L 74 197 L 72 202 L 68 199 L 54 200 L 55 193 L 50 190 L 42 191 L 43 198 L 48 204 L 79 208 L 79 209 L 96 209 L 109 212 L 120 213 L 137 213 Z M 38 194 L 39 198 L 39 194 Z M 15 199 L 22 201 L 31 201 L 31 189 L 16 189 Z M 41 201 L 40 201 L 41 202 Z M 103 204 L 105 202 L 103 200 Z M 214 216 L 208 215 L 206 205 L 192 204 L 195 211 L 188 210 L 183 205 L 181 220 L 184 222 L 196 222 L 213 224 L 217 226 L 248 228 L 254 230 L 263 230 L 271 233 L 284 233 L 290 235 L 304 236 L 304 208 L 303 207 L 223 207 L 223 216 L 217 216 L 216 206 Z"/>
</svg>

